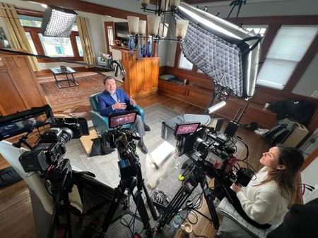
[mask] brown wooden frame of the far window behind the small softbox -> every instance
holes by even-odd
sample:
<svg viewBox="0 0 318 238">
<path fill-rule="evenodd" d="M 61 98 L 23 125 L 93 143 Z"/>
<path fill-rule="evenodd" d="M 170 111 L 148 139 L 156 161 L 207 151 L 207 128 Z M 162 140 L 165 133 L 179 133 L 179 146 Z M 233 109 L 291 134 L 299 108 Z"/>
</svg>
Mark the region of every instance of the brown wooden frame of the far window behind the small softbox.
<svg viewBox="0 0 318 238">
<path fill-rule="evenodd" d="M 17 9 L 17 13 L 18 15 L 30 15 L 30 16 L 34 16 L 38 18 L 43 18 L 43 13 L 37 12 L 37 11 L 33 11 L 32 13 L 30 13 L 30 11 L 25 11 L 24 9 Z M 45 51 L 42 47 L 40 37 L 37 35 L 38 33 L 40 33 L 40 28 L 23 26 L 23 29 L 25 32 L 30 32 L 31 38 L 33 39 L 33 43 L 35 45 L 35 49 L 37 50 L 37 54 L 45 56 Z M 59 58 L 63 58 L 66 61 L 83 61 L 84 60 L 83 56 L 79 56 L 76 36 L 79 37 L 79 34 L 78 32 L 74 32 L 74 31 L 72 31 L 71 35 L 69 36 L 71 40 L 74 57 L 59 57 Z M 48 58 L 37 58 L 37 62 L 49 63 L 49 62 L 59 62 L 59 61 L 54 59 L 48 59 Z"/>
</svg>

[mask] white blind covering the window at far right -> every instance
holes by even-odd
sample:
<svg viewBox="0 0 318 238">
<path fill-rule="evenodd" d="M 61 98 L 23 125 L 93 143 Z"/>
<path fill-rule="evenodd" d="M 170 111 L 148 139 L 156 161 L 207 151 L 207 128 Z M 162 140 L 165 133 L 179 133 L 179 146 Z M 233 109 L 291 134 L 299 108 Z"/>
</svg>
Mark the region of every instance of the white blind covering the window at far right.
<svg viewBox="0 0 318 238">
<path fill-rule="evenodd" d="M 278 31 L 264 64 L 257 75 L 257 84 L 283 89 L 302 60 L 318 26 L 287 26 Z"/>
</svg>

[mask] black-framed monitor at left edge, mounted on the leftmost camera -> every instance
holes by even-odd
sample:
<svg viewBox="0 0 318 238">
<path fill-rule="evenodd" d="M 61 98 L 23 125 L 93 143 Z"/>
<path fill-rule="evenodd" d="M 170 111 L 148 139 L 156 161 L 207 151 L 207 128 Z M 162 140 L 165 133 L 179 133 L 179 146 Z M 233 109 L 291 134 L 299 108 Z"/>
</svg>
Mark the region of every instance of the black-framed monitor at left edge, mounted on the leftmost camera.
<svg viewBox="0 0 318 238">
<path fill-rule="evenodd" d="M 45 108 L 7 115 L 0 118 L 0 141 L 50 123 L 52 118 Z"/>
</svg>

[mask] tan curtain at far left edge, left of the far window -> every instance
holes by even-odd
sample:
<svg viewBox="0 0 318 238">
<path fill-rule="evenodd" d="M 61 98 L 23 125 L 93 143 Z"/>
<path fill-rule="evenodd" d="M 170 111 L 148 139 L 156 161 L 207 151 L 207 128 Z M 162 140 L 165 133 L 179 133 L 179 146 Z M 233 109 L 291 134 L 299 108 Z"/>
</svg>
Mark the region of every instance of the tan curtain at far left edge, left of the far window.
<svg viewBox="0 0 318 238">
<path fill-rule="evenodd" d="M 0 3 L 0 16 L 3 17 L 4 23 L 8 28 L 8 32 L 11 37 L 11 46 L 15 49 L 24 49 L 28 53 L 33 54 L 31 46 L 25 35 L 25 31 L 18 19 L 18 14 L 16 13 L 16 8 L 11 4 Z M 40 71 L 39 63 L 37 63 L 37 58 L 28 57 L 30 64 L 34 71 Z"/>
</svg>

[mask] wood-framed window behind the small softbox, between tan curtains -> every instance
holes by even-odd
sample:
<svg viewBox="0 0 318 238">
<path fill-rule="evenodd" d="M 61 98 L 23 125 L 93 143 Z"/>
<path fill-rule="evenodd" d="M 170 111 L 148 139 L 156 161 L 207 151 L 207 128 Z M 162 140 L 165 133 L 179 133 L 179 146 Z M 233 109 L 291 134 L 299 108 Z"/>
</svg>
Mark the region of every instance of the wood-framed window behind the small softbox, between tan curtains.
<svg viewBox="0 0 318 238">
<path fill-rule="evenodd" d="M 83 48 L 78 35 L 78 27 L 76 24 L 72 27 L 70 37 L 44 37 L 40 33 L 42 17 L 29 15 L 18 15 L 21 25 L 25 30 L 33 54 L 42 54 L 50 57 L 67 57 L 72 60 L 83 60 Z M 38 58 L 39 62 L 54 61 L 50 59 Z"/>
</svg>

